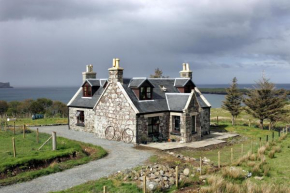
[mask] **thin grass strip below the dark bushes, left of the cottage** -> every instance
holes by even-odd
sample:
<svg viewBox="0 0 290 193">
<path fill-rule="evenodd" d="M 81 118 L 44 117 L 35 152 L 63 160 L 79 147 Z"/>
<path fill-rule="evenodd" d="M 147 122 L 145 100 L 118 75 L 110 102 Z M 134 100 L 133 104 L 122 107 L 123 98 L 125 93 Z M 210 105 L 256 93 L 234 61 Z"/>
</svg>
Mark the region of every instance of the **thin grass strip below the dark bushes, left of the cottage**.
<svg viewBox="0 0 290 193">
<path fill-rule="evenodd" d="M 4 122 L 5 119 L 0 119 L 0 122 Z M 13 122 L 7 122 L 10 127 L 13 127 Z M 16 126 L 23 126 L 23 124 L 27 126 L 33 125 L 51 125 L 51 124 L 68 124 L 67 118 L 44 118 L 44 119 L 36 119 L 32 120 L 31 118 L 17 118 L 15 121 Z M 2 125 L 2 127 L 4 124 Z"/>
</svg>

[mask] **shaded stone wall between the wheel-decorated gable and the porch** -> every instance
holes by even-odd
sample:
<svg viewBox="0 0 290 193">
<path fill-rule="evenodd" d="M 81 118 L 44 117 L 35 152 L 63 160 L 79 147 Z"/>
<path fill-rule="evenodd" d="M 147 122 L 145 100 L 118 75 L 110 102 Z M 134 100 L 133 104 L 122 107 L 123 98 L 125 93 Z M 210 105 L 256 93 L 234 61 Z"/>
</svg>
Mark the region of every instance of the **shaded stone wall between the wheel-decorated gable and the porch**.
<svg viewBox="0 0 290 193">
<path fill-rule="evenodd" d="M 170 124 L 170 113 L 156 113 L 156 114 L 143 114 L 138 115 L 138 143 L 143 139 L 147 139 L 148 142 L 151 142 L 152 137 L 148 137 L 148 117 L 159 117 L 159 132 L 163 135 L 164 138 L 169 138 L 169 124 Z"/>
</svg>

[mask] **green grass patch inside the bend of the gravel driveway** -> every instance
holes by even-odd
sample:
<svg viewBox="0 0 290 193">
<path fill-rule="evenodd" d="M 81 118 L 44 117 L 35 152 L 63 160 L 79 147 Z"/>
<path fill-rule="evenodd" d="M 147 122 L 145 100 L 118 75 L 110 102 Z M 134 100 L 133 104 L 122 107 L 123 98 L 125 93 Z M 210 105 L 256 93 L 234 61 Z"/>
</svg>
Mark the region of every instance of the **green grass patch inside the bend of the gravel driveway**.
<svg viewBox="0 0 290 193">
<path fill-rule="evenodd" d="M 39 143 L 36 143 L 36 133 L 27 131 L 23 138 L 21 130 L 16 131 L 16 135 L 10 130 L 0 131 L 0 172 L 7 172 L 8 178 L 1 179 L 0 185 L 8 185 L 12 183 L 31 180 L 33 178 L 63 171 L 76 165 L 87 163 L 91 160 L 99 159 L 107 154 L 107 152 L 99 146 L 81 143 L 74 140 L 57 137 L 57 150 L 52 151 L 51 141 L 49 141 L 41 150 L 37 150 L 50 135 L 40 133 Z M 16 158 L 13 157 L 12 137 L 15 137 Z M 88 155 L 84 148 L 89 148 L 93 153 Z M 27 170 L 31 165 L 43 164 L 44 161 L 51 162 L 55 158 L 69 157 L 76 153 L 76 159 L 65 162 L 53 163 L 48 167 L 19 173 L 13 175 L 11 169 L 19 168 Z"/>
</svg>

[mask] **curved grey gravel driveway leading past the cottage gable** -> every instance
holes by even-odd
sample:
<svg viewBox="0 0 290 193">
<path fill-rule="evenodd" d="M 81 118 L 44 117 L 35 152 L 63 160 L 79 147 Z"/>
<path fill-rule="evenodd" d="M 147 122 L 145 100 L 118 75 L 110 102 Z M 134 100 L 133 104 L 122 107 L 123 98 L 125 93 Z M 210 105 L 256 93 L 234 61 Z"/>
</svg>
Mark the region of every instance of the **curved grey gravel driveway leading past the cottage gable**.
<svg viewBox="0 0 290 193">
<path fill-rule="evenodd" d="M 65 190 L 89 180 L 96 180 L 117 171 L 138 166 L 152 155 L 148 151 L 134 149 L 132 144 L 99 139 L 92 133 L 68 130 L 67 126 L 40 127 L 39 131 L 45 133 L 56 131 L 58 136 L 102 146 L 109 155 L 100 160 L 39 177 L 29 182 L 0 187 L 0 192 L 42 193 Z"/>
</svg>

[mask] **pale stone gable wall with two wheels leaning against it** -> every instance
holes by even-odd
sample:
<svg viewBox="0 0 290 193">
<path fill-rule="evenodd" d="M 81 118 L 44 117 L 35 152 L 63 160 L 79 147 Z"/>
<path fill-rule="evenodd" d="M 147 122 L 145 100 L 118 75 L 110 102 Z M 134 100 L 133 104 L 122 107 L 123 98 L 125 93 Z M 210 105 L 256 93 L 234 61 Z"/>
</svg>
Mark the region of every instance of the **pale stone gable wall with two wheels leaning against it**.
<svg viewBox="0 0 290 193">
<path fill-rule="evenodd" d="M 134 135 L 132 143 L 136 143 L 136 114 L 121 89 L 116 83 L 108 85 L 95 109 L 94 132 L 106 138 L 105 131 L 111 126 L 115 129 L 113 140 L 122 140 L 122 132 L 129 128 Z"/>
</svg>

